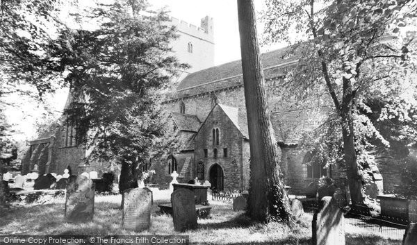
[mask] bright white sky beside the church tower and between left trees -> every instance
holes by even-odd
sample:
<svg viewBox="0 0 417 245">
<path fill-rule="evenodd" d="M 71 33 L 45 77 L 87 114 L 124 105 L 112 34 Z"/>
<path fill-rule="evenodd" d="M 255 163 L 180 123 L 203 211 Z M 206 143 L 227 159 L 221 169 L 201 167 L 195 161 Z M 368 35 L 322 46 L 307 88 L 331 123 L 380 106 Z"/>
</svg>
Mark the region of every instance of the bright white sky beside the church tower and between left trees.
<svg viewBox="0 0 417 245">
<path fill-rule="evenodd" d="M 90 0 L 91 1 L 91 0 Z M 81 1 L 81 6 L 88 6 L 88 0 Z M 238 13 L 236 0 L 149 0 L 153 8 L 166 7 L 170 16 L 181 19 L 195 26 L 200 25 L 200 19 L 206 15 L 213 17 L 215 38 L 215 65 L 240 60 L 240 42 L 238 31 Z M 262 0 L 255 0 L 256 11 L 263 7 Z M 81 7 L 83 8 L 83 7 Z M 258 32 L 262 28 L 258 26 Z M 268 51 L 283 47 L 261 47 L 261 51 Z M 47 98 L 55 117 L 62 114 L 67 99 L 67 89 L 58 90 L 55 96 Z M 33 140 L 36 137 L 35 121 L 39 118 L 54 116 L 47 115 L 36 101 L 30 101 L 19 108 L 8 108 L 6 111 L 8 121 L 15 125 L 19 132 L 16 140 Z"/>
</svg>

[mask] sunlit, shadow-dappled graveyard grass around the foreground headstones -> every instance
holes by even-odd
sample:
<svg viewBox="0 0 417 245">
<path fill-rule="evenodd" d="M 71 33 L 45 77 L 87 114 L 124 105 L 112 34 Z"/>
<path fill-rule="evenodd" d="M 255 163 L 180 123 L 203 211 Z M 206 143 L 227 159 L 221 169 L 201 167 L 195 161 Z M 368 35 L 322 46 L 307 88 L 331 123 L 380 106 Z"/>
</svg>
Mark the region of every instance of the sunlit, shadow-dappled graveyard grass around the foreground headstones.
<svg viewBox="0 0 417 245">
<path fill-rule="evenodd" d="M 197 230 L 174 231 L 172 217 L 159 213 L 158 204 L 170 202 L 167 191 L 154 192 L 152 224 L 136 233 L 122 229 L 120 195 L 96 195 L 93 221 L 64 221 L 65 196 L 42 196 L 33 203 L 15 202 L 0 217 L 0 235 L 189 235 L 193 244 L 311 244 L 312 214 L 306 213 L 290 228 L 281 223 L 254 223 L 231 204 L 209 202 L 211 219 L 199 219 Z M 346 226 L 346 244 L 401 244 L 400 240 L 374 235 L 363 228 Z"/>
</svg>

